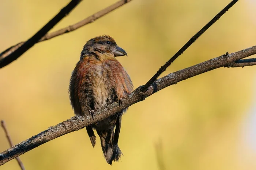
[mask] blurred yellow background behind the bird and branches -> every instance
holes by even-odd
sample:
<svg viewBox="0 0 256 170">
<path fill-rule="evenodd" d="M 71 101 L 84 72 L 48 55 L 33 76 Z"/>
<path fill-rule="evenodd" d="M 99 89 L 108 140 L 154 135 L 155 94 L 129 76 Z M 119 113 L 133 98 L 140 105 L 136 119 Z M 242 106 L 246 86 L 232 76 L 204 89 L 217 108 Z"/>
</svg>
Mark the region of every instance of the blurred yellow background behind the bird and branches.
<svg viewBox="0 0 256 170">
<path fill-rule="evenodd" d="M 118 60 L 134 87 L 145 84 L 231 0 L 133 0 L 74 32 L 36 44 L 0 69 L 0 119 L 17 144 L 74 112 L 71 72 L 87 40 L 112 36 L 128 53 Z M 69 0 L 0 0 L 0 51 L 27 40 Z M 116 0 L 83 0 L 52 31 L 76 23 Z M 164 74 L 256 45 L 256 1 L 238 1 Z M 253 57 L 253 56 L 252 56 Z M 254 56 L 255 57 L 255 56 Z M 27 170 L 256 169 L 256 66 L 218 68 L 167 87 L 123 116 L 120 162 L 108 165 L 99 141 L 82 129 L 20 158 Z M 0 151 L 9 148 L 0 129 Z M 0 170 L 19 169 L 16 160 Z"/>
</svg>

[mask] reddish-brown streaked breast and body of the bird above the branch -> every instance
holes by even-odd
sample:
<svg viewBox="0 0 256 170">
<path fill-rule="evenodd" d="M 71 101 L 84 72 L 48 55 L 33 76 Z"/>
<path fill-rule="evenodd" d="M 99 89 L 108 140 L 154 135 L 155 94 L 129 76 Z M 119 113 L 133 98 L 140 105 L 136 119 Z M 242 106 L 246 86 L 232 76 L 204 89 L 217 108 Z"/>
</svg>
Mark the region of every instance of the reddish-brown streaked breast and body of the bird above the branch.
<svg viewBox="0 0 256 170">
<path fill-rule="evenodd" d="M 75 70 L 71 87 L 78 88 L 74 96 L 78 96 L 84 113 L 89 108 L 106 107 L 132 92 L 131 79 L 117 60 L 101 62 L 87 58 L 79 62 Z M 76 102 L 75 97 L 73 101 Z"/>
</svg>

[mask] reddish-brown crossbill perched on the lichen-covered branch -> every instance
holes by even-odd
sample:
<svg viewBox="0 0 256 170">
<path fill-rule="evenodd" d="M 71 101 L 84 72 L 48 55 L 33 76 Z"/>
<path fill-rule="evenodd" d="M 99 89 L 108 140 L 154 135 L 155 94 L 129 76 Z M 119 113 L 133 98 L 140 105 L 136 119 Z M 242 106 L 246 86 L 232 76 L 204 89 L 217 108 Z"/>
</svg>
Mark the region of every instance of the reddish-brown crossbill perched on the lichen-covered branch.
<svg viewBox="0 0 256 170">
<path fill-rule="evenodd" d="M 83 46 L 80 60 L 71 74 L 69 99 L 77 116 L 90 115 L 114 102 L 122 101 L 133 91 L 130 76 L 116 59 L 128 56 L 123 48 L 109 35 L 96 36 Z M 96 144 L 96 130 L 106 162 L 112 165 L 121 155 L 118 138 L 121 129 L 123 111 L 87 126 L 87 134 L 93 147 Z"/>
</svg>

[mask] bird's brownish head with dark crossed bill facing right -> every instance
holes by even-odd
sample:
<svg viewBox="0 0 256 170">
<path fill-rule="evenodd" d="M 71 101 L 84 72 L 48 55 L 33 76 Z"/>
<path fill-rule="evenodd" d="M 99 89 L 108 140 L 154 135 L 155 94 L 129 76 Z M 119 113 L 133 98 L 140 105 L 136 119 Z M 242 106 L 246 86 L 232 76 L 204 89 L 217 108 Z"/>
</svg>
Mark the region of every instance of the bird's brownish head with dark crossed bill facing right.
<svg viewBox="0 0 256 170">
<path fill-rule="evenodd" d="M 81 58 L 86 54 L 94 54 L 99 58 L 101 56 L 112 56 L 113 58 L 127 56 L 123 48 L 118 47 L 116 41 L 108 35 L 97 36 L 87 41 L 81 52 Z"/>
</svg>

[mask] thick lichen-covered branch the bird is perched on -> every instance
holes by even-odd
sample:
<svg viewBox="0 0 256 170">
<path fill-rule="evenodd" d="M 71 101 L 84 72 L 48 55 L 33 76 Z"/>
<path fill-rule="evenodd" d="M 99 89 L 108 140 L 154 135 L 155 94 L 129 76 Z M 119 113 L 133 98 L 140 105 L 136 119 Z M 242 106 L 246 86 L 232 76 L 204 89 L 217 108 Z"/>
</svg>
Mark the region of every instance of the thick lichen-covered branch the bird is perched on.
<svg viewBox="0 0 256 170">
<path fill-rule="evenodd" d="M 202 74 L 204 72 L 214 70 L 219 67 L 227 66 L 230 63 L 233 63 L 242 58 L 246 58 L 256 54 L 256 46 L 246 48 L 244 50 L 231 53 L 229 55 L 222 55 L 217 58 L 207 60 L 206 62 L 196 64 L 173 72 L 169 75 L 164 76 L 156 81 L 154 81 L 151 86 L 147 89 L 146 92 L 142 91 L 142 86 L 138 87 L 133 91 L 126 99 L 123 100 L 123 106 L 119 107 L 119 104 L 113 103 L 110 106 L 104 108 L 103 110 L 96 111 L 96 118 L 92 119 L 91 116 L 74 116 L 71 119 L 68 119 L 62 123 L 59 123 L 55 126 L 49 127 L 47 130 L 27 139 L 26 141 L 20 142 L 19 144 L 11 147 L 10 149 L 3 151 L 0 154 L 0 165 L 18 157 L 21 154 L 26 153 L 27 151 L 34 149 L 37 146 L 42 145 L 48 141 L 51 141 L 57 137 L 68 134 L 72 131 L 82 129 L 91 124 L 97 123 L 103 119 L 108 118 L 111 115 L 120 112 L 124 108 L 131 106 L 132 104 L 138 103 L 148 96 L 154 94 L 155 92 L 162 90 L 165 87 L 168 87 L 172 84 L 177 84 L 178 82 L 191 78 L 193 76 Z"/>
</svg>

